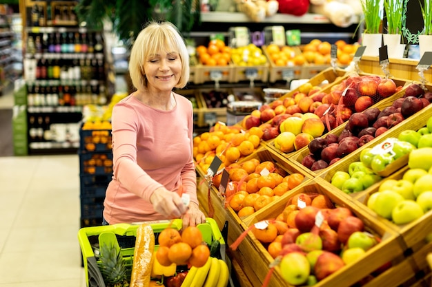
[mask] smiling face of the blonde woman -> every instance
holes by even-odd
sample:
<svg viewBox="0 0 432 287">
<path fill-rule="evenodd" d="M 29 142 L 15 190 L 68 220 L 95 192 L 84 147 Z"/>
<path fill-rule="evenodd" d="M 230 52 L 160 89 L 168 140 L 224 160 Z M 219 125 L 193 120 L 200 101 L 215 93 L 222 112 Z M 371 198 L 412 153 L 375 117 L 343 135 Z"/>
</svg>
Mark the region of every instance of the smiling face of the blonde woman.
<svg viewBox="0 0 432 287">
<path fill-rule="evenodd" d="M 181 59 L 177 52 L 150 54 L 144 64 L 148 87 L 171 91 L 181 75 Z"/>
</svg>

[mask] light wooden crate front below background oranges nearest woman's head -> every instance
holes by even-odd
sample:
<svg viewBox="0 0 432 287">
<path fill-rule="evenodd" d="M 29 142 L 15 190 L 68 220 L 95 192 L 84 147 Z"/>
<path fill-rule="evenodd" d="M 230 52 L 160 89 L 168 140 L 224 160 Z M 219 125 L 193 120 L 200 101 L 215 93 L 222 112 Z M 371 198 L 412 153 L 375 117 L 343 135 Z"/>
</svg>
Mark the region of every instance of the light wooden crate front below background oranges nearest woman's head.
<svg viewBox="0 0 432 287">
<path fill-rule="evenodd" d="M 226 66 L 207 66 L 198 64 L 195 66 L 195 84 L 206 82 L 234 82 L 234 65 L 229 63 Z"/>
</svg>

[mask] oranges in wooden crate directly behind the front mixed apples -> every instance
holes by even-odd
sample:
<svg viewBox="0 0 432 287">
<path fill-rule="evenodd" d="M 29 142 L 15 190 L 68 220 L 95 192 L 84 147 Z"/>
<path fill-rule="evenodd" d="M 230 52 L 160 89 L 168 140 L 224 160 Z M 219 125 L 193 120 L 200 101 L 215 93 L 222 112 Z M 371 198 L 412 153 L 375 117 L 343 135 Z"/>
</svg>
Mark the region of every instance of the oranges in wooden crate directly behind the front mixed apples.
<svg viewBox="0 0 432 287">
<path fill-rule="evenodd" d="M 246 217 L 278 200 L 304 180 L 301 173 L 288 173 L 272 160 L 251 158 L 226 167 L 228 186 L 224 190 L 225 204 L 239 217 Z M 213 185 L 219 189 L 222 173 L 213 176 Z"/>
</svg>

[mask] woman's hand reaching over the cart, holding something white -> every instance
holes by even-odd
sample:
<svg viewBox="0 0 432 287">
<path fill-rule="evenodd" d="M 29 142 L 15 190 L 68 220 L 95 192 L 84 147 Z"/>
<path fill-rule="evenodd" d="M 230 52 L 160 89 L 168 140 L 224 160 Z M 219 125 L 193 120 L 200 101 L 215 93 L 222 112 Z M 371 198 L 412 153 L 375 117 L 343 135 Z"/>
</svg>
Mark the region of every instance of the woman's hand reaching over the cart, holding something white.
<svg viewBox="0 0 432 287">
<path fill-rule="evenodd" d="M 164 215 L 167 219 L 179 218 L 188 211 L 180 196 L 172 191 L 161 187 L 156 189 L 150 196 L 150 202 L 157 213 Z"/>
</svg>

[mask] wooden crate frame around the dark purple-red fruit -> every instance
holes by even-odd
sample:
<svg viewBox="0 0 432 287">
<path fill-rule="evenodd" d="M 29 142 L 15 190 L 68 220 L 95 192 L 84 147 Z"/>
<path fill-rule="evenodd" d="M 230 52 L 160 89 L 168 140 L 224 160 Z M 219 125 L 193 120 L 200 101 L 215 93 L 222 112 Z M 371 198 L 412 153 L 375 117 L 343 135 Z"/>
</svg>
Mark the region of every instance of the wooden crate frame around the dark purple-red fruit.
<svg viewBox="0 0 432 287">
<path fill-rule="evenodd" d="M 406 81 L 401 80 L 401 79 L 395 79 L 394 80 L 396 85 L 402 85 L 404 86 L 404 84 L 406 83 Z M 397 98 L 401 98 L 404 95 L 404 89 L 402 89 L 400 92 L 397 92 L 395 94 L 393 94 L 393 96 L 389 96 L 389 98 L 384 98 L 383 100 L 380 100 L 380 102 L 375 103 L 375 105 L 372 105 L 372 107 L 377 107 L 378 109 L 382 110 L 385 107 L 389 107 L 393 104 L 393 102 L 397 99 Z M 291 160 L 292 162 L 294 162 L 295 164 L 300 165 L 301 167 L 303 167 L 304 169 L 306 169 L 306 171 L 308 171 L 310 174 L 312 174 L 313 176 L 317 176 L 323 172 L 326 172 L 328 170 L 339 170 L 342 164 L 346 164 L 346 169 L 348 169 L 348 165 L 349 163 L 355 161 L 353 160 L 353 155 L 355 155 L 356 153 L 358 153 L 358 155 L 360 156 L 360 151 L 362 151 L 362 149 L 369 147 L 371 145 L 374 145 L 374 143 L 376 143 L 379 139 L 382 139 L 384 137 L 389 136 L 389 134 L 391 133 L 391 131 L 395 131 L 396 129 L 400 129 L 400 127 L 403 125 L 403 123 L 406 123 L 407 120 L 412 120 L 415 116 L 411 116 L 410 118 L 404 120 L 404 122 L 400 123 L 399 125 L 396 125 L 395 127 L 392 127 L 391 129 L 389 129 L 389 131 L 384 132 L 383 134 L 381 134 L 380 136 L 377 136 L 377 138 L 371 140 L 371 142 L 368 142 L 366 145 L 357 148 L 355 151 L 353 151 L 352 153 L 350 153 L 348 156 L 345 156 L 344 158 L 342 158 L 342 160 L 339 160 L 338 162 L 335 162 L 335 164 L 332 164 L 331 166 L 327 167 L 326 169 L 320 169 L 318 171 L 311 171 L 310 169 L 304 167 L 304 165 L 302 164 L 302 160 L 305 156 L 307 156 L 309 154 L 309 149 L 308 147 L 303 147 L 302 149 L 295 151 L 292 155 L 287 156 L 288 160 Z M 346 122 L 343 123 L 342 125 L 336 127 L 335 129 L 329 131 L 327 134 L 335 134 L 336 136 L 339 136 L 342 131 L 344 130 L 346 125 Z M 400 132 L 400 131 L 399 131 Z M 323 138 L 325 138 L 325 136 L 327 134 L 322 135 Z M 272 146 L 272 142 L 270 142 L 268 144 L 270 147 L 272 147 L 273 149 L 277 150 L 274 147 L 274 144 Z M 280 153 L 280 151 L 279 151 Z M 337 167 L 336 167 L 336 164 Z M 334 172 L 333 172 L 334 173 Z M 333 176 L 333 174 L 332 174 Z"/>
</svg>

